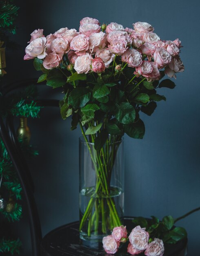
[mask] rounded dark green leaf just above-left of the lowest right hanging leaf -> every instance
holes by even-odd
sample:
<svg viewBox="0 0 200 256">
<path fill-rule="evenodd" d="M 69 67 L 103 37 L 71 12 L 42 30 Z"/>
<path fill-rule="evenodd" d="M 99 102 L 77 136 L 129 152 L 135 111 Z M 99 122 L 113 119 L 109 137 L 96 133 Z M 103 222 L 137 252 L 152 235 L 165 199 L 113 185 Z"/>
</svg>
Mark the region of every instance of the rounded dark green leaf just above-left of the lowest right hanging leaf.
<svg viewBox="0 0 200 256">
<path fill-rule="evenodd" d="M 116 104 L 116 107 L 116 119 L 121 124 L 131 124 L 134 122 L 136 118 L 136 110 L 130 103 L 121 102 L 120 104 Z"/>
</svg>

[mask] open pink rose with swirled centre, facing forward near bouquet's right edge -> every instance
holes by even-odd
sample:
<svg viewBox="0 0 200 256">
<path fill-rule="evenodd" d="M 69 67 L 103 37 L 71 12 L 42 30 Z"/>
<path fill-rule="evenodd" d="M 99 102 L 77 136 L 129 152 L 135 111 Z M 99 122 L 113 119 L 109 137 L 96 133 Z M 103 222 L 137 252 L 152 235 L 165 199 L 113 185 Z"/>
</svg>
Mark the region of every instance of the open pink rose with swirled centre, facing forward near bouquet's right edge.
<svg viewBox="0 0 200 256">
<path fill-rule="evenodd" d="M 158 68 L 166 66 L 172 60 L 171 55 L 162 47 L 156 48 L 156 51 L 153 54 L 153 59 Z"/>
</svg>

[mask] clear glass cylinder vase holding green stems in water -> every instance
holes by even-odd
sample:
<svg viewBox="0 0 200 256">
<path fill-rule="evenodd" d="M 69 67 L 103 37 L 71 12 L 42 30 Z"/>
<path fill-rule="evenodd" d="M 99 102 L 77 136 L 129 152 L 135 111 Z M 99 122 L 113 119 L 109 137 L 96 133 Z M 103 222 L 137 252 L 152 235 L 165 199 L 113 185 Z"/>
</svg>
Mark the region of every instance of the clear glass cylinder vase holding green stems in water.
<svg viewBox="0 0 200 256">
<path fill-rule="evenodd" d="M 124 215 L 124 141 L 111 136 L 100 150 L 79 138 L 80 239 L 102 241 Z"/>
</svg>

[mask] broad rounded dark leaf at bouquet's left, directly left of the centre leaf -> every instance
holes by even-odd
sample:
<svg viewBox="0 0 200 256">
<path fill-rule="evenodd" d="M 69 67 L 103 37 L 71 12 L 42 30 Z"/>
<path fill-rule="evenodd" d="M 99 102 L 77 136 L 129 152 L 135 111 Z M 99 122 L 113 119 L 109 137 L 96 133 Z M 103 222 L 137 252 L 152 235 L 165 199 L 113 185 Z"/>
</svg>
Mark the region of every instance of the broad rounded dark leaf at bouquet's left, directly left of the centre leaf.
<svg viewBox="0 0 200 256">
<path fill-rule="evenodd" d="M 74 88 L 68 97 L 68 105 L 73 106 L 74 109 L 84 107 L 90 100 L 91 92 L 85 87 Z"/>
</svg>

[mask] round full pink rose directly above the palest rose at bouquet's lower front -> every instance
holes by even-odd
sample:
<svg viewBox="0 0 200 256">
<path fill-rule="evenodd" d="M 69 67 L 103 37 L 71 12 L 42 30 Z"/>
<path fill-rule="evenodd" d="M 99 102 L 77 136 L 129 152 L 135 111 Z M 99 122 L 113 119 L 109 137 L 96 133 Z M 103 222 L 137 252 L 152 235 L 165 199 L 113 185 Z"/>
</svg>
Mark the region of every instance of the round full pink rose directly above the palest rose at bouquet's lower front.
<svg viewBox="0 0 200 256">
<path fill-rule="evenodd" d="M 71 40 L 70 49 L 76 51 L 77 55 L 84 55 L 89 49 L 89 37 L 84 34 L 75 36 Z"/>
</svg>

